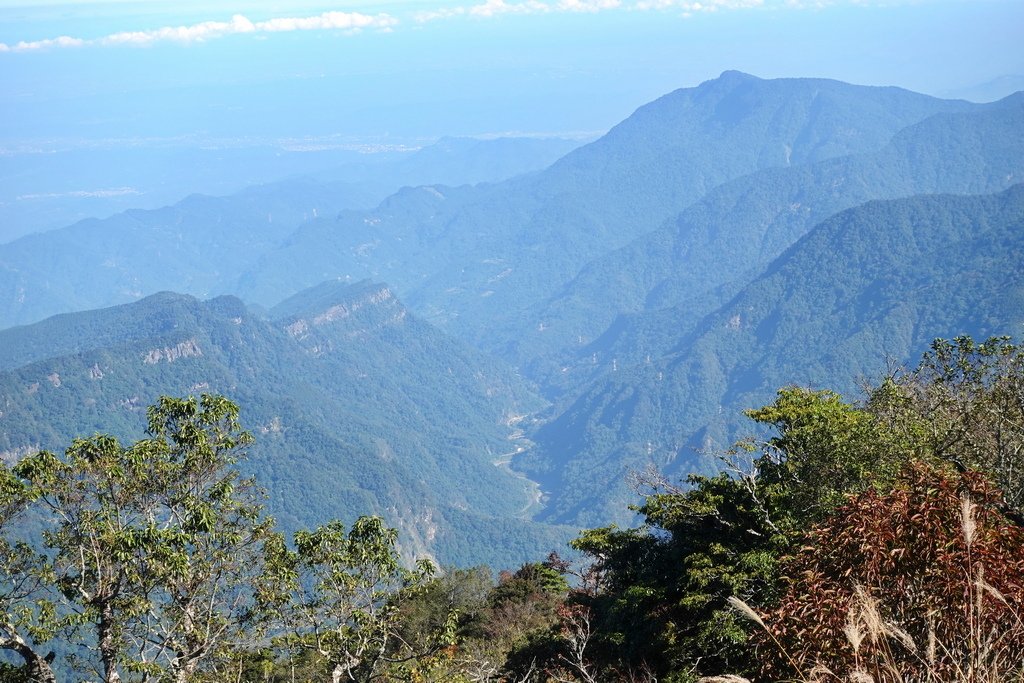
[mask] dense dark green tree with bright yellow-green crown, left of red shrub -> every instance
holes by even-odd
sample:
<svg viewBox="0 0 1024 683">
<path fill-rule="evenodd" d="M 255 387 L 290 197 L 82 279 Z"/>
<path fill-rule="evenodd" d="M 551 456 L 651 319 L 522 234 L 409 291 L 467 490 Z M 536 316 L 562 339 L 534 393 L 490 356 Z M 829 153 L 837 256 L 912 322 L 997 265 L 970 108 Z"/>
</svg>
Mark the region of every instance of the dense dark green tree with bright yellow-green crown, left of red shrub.
<svg viewBox="0 0 1024 683">
<path fill-rule="evenodd" d="M 599 590 L 578 600 L 593 612 L 604 666 L 748 670 L 748 629 L 728 598 L 770 603 L 778 560 L 802 530 L 845 494 L 885 484 L 892 454 L 870 415 L 836 393 L 786 388 L 749 415 L 776 430 L 759 456 L 742 443 L 731 471 L 691 475 L 685 489 L 655 481 L 638 508 L 643 527 L 591 529 L 572 543 L 599 575 Z"/>
</svg>

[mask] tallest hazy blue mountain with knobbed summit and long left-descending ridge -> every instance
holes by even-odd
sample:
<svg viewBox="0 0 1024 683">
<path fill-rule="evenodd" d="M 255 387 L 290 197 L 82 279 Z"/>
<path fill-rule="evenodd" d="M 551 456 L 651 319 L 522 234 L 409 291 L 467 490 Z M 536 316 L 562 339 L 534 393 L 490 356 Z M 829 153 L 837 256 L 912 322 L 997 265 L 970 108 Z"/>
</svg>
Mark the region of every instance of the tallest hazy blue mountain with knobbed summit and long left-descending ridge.
<svg viewBox="0 0 1024 683">
<path fill-rule="evenodd" d="M 260 303 L 330 278 L 386 280 L 427 319 L 503 353 L 530 307 L 722 182 L 884 145 L 939 112 L 897 88 L 727 72 L 640 108 L 543 172 L 406 188 L 371 212 L 304 224 L 240 281 Z"/>
</svg>

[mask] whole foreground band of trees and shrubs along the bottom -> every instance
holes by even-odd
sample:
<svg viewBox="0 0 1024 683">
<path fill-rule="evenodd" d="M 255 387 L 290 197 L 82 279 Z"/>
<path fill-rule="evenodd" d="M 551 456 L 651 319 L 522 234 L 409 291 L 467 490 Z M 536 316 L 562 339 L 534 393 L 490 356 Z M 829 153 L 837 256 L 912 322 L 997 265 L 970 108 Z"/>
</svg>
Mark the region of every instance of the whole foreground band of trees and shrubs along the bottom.
<svg viewBox="0 0 1024 683">
<path fill-rule="evenodd" d="M 1024 348 L 936 340 L 849 402 L 785 387 L 635 528 L 501 572 L 376 517 L 286 539 L 226 398 L 0 470 L 4 680 L 1016 680 Z"/>
</svg>

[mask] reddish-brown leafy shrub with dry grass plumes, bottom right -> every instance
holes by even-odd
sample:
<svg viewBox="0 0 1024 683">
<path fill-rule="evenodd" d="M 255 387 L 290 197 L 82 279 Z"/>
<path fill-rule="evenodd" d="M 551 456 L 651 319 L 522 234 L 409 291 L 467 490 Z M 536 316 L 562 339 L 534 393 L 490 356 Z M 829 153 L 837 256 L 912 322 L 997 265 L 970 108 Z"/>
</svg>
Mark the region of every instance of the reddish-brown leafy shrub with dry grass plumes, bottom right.
<svg viewBox="0 0 1024 683">
<path fill-rule="evenodd" d="M 1024 529 L 977 473 L 907 468 L 816 527 L 755 636 L 765 680 L 995 681 L 1024 668 Z"/>
</svg>

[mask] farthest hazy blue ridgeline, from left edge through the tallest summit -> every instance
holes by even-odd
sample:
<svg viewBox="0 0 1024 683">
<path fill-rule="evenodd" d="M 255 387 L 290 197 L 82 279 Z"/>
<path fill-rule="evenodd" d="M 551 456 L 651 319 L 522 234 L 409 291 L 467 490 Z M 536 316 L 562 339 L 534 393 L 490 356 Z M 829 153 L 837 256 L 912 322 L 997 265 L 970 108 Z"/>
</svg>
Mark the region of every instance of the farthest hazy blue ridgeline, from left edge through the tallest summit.
<svg viewBox="0 0 1024 683">
<path fill-rule="evenodd" d="M 0 327 L 162 289 L 272 305 L 325 280 L 370 278 L 392 283 L 431 322 L 502 350 L 509 328 L 588 262 L 656 229 L 712 187 L 759 169 L 874 150 L 928 116 L 976 106 L 898 88 L 726 72 L 640 108 L 543 172 L 490 185 L 404 189 L 336 220 L 358 204 L 348 185 L 294 181 L 0 245 Z M 502 154 L 497 141 L 476 143 L 484 144 Z M 464 159 L 477 154 L 460 141 L 430 154 L 443 158 L 445 146 Z M 496 329 L 504 329 L 501 339 Z"/>
</svg>

